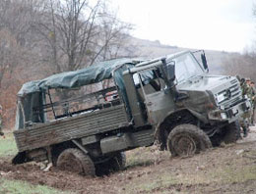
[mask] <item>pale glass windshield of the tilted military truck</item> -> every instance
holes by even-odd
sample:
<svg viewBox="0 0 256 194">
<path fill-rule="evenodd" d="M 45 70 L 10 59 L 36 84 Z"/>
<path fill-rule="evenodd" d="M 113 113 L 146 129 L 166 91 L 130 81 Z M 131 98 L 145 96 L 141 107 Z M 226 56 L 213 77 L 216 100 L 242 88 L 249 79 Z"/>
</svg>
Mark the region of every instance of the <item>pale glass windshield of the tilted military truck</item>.
<svg viewBox="0 0 256 194">
<path fill-rule="evenodd" d="M 204 73 L 203 69 L 191 53 L 186 53 L 174 58 L 173 61 L 175 61 L 176 83 L 180 83 L 192 76 Z"/>
</svg>

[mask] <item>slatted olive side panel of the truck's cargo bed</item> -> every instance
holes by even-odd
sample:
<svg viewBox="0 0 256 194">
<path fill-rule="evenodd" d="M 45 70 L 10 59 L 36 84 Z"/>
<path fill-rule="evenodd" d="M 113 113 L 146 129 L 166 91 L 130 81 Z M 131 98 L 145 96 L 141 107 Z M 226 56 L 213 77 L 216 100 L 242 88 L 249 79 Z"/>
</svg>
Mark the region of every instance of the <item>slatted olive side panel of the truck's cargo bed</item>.
<svg viewBox="0 0 256 194">
<path fill-rule="evenodd" d="M 127 126 L 124 105 L 56 121 L 37 123 L 14 132 L 19 152 L 32 150 L 71 139 L 86 137 Z"/>
</svg>

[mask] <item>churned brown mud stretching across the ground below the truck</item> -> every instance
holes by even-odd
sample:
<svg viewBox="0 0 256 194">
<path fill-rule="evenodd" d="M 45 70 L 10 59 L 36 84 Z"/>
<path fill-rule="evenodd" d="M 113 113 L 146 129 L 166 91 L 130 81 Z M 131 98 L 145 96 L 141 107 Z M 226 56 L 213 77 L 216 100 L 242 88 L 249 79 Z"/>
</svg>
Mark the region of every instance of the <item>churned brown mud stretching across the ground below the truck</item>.
<svg viewBox="0 0 256 194">
<path fill-rule="evenodd" d="M 198 171 L 208 173 L 220 166 L 231 166 L 237 164 L 237 168 L 244 166 L 255 167 L 256 156 L 256 130 L 251 130 L 249 137 L 239 141 L 237 144 L 212 149 L 203 152 L 192 158 L 170 158 L 166 153 L 158 153 L 160 158 L 158 163 L 148 163 L 148 165 L 128 166 L 126 170 L 110 173 L 100 177 L 85 177 L 69 171 L 51 168 L 43 171 L 40 165 L 29 163 L 13 166 L 11 159 L 0 158 L 0 177 L 28 181 L 34 185 L 47 185 L 60 190 L 69 190 L 76 193 L 256 193 L 256 180 L 230 181 L 230 183 L 209 182 L 197 183 L 170 183 L 167 186 L 157 186 L 152 190 L 136 190 L 128 188 L 127 185 L 137 185 L 143 181 L 156 180 L 163 173 L 169 176 L 184 176 L 186 174 L 197 175 Z M 132 156 L 132 152 L 127 153 L 127 158 Z M 129 189 L 129 190 L 127 190 Z"/>
</svg>

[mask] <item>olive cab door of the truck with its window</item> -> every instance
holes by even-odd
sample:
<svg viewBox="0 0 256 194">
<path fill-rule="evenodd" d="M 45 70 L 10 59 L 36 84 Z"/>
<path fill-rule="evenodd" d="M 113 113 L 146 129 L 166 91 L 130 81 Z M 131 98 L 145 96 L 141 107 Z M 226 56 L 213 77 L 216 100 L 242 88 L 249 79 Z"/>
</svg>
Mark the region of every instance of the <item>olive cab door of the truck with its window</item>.
<svg viewBox="0 0 256 194">
<path fill-rule="evenodd" d="M 142 88 L 140 93 L 144 97 L 148 121 L 152 124 L 159 123 L 167 113 L 174 110 L 173 94 L 167 89 L 160 70 L 155 68 L 134 74 L 134 79 L 140 80 Z"/>
</svg>

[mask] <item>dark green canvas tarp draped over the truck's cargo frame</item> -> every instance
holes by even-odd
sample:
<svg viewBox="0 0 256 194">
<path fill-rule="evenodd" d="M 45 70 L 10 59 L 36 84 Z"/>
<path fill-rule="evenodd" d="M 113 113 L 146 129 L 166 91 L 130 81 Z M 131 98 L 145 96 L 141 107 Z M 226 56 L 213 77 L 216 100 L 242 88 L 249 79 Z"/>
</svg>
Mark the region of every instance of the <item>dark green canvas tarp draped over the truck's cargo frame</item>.
<svg viewBox="0 0 256 194">
<path fill-rule="evenodd" d="M 32 107 L 42 106 L 45 101 L 45 91 L 53 88 L 76 88 L 100 82 L 112 77 L 114 70 L 114 79 L 121 93 L 126 96 L 122 73 L 128 68 L 132 68 L 139 61 L 132 59 L 117 59 L 106 62 L 100 62 L 89 68 L 79 71 L 53 74 L 41 80 L 27 82 L 18 92 L 18 108 L 16 114 L 16 129 L 24 128 L 24 121 L 37 122 L 43 121 L 43 116 L 34 116 Z M 38 119 L 40 118 L 40 119 Z"/>
</svg>

